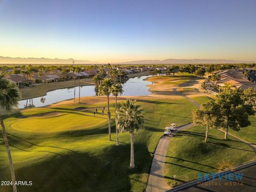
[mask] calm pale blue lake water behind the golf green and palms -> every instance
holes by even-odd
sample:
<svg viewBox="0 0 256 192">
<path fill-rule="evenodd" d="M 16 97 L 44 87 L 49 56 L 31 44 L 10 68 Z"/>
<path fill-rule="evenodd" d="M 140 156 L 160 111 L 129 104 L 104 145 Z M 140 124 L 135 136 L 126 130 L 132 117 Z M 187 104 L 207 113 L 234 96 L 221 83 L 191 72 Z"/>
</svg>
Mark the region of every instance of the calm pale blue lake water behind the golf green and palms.
<svg viewBox="0 0 256 192">
<path fill-rule="evenodd" d="M 151 82 L 143 81 L 148 76 L 141 76 L 141 77 L 133 77 L 128 79 L 125 83 L 123 83 L 123 94 L 122 95 L 148 95 L 149 87 L 147 85 L 152 84 Z M 40 85 L 38 85 L 40 86 Z M 94 96 L 94 85 L 85 85 L 81 86 L 81 97 L 84 96 Z M 76 87 L 76 98 L 78 97 L 78 86 Z M 27 108 L 27 107 L 42 107 L 46 105 L 50 105 L 55 102 L 60 102 L 67 99 L 74 98 L 74 87 L 72 88 L 65 88 L 65 89 L 58 89 L 47 92 L 44 97 L 37 97 L 33 99 L 25 99 L 19 101 L 18 108 Z M 76 100 L 78 101 L 78 99 Z M 27 106 L 27 107 L 26 107 Z"/>
</svg>

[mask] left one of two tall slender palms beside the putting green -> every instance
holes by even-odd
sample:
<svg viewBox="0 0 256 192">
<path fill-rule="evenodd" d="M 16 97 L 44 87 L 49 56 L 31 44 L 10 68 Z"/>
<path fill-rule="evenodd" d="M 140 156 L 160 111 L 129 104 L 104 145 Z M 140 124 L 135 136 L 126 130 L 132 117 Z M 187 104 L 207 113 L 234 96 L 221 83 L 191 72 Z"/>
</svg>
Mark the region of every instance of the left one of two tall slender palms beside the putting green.
<svg viewBox="0 0 256 192">
<path fill-rule="evenodd" d="M 110 78 L 104 79 L 99 86 L 99 93 L 107 95 L 108 99 L 108 140 L 111 141 L 111 126 L 110 126 L 110 110 L 109 110 L 109 95 L 111 93 L 113 82 Z"/>
</svg>

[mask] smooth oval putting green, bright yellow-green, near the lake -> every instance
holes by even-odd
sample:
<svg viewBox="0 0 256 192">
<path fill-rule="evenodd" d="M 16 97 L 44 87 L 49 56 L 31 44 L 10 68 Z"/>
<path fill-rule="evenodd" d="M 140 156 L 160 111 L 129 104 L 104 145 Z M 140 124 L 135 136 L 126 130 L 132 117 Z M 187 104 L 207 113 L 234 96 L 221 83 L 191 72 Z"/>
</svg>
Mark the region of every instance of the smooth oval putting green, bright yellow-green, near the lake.
<svg viewBox="0 0 256 192">
<path fill-rule="evenodd" d="M 31 117 L 11 124 L 12 129 L 26 132 L 60 132 L 97 127 L 108 120 L 107 115 L 74 111 L 50 117 Z"/>
</svg>

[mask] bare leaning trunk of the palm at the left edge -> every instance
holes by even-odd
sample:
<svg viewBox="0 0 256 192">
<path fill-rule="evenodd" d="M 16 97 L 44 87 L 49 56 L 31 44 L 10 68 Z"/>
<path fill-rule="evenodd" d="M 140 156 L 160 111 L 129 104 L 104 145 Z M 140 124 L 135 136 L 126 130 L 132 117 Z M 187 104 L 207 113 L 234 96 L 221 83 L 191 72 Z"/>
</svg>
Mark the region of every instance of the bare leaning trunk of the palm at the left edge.
<svg viewBox="0 0 256 192">
<path fill-rule="evenodd" d="M 14 174 L 14 169 L 13 169 L 11 151 L 10 151 L 10 148 L 9 148 L 9 143 L 8 143 L 8 139 L 7 139 L 7 136 L 6 136 L 5 127 L 4 127 L 4 121 L 3 121 L 3 118 L 1 116 L 1 114 L 0 114 L 0 123 L 1 123 L 1 127 L 2 127 L 2 134 L 3 134 L 3 138 L 4 138 L 5 148 L 6 148 L 6 151 L 7 151 L 8 158 L 9 158 L 9 166 L 10 166 L 11 176 L 12 176 L 13 192 L 17 192 L 17 188 L 15 186 L 15 174 Z"/>
</svg>

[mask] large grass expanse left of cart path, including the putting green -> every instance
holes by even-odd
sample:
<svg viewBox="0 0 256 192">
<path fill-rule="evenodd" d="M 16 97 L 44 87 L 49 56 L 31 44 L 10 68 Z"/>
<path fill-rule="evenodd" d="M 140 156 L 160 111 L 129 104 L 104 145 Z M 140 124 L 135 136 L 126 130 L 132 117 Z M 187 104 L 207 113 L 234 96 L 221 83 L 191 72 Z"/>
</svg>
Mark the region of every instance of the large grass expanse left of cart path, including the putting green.
<svg viewBox="0 0 256 192">
<path fill-rule="evenodd" d="M 92 111 L 106 103 L 26 109 L 6 116 L 17 180 L 33 181 L 33 186 L 18 186 L 18 191 L 143 191 L 164 127 L 191 122 L 195 106 L 187 99 L 139 100 L 138 104 L 145 110 L 146 124 L 145 130 L 135 134 L 135 169 L 129 169 L 129 133 L 119 134 L 121 145 L 115 146 L 114 119 L 113 141 L 108 141 L 107 119 L 92 117 Z M 76 110 L 81 107 L 85 111 Z M 60 114 L 36 116 L 52 111 Z M 0 180 L 11 179 L 7 159 L 1 140 Z M 10 186 L 0 188 L 1 192 L 11 190 Z"/>
</svg>

